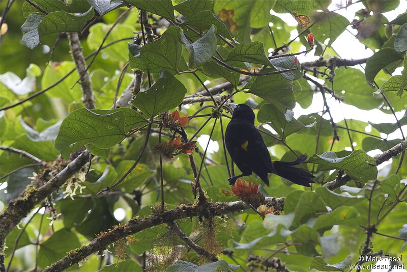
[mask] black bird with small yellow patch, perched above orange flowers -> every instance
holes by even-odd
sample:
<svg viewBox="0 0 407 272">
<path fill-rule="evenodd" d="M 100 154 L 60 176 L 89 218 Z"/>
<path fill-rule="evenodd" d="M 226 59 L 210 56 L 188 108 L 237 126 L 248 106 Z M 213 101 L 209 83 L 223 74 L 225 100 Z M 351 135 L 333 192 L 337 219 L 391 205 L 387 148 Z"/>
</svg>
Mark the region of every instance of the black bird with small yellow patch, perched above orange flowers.
<svg viewBox="0 0 407 272">
<path fill-rule="evenodd" d="M 302 164 L 307 155 L 301 155 L 296 161 L 272 161 L 267 146 L 260 132 L 254 126 L 254 112 L 246 104 L 231 104 L 234 107 L 232 119 L 227 125 L 225 142 L 231 159 L 239 167 L 242 174 L 229 178 L 230 185 L 236 179 L 250 176 L 252 172 L 270 186 L 268 173 L 273 173 L 291 182 L 310 187 L 314 183 L 313 175 L 302 168 L 294 167 Z"/>
</svg>

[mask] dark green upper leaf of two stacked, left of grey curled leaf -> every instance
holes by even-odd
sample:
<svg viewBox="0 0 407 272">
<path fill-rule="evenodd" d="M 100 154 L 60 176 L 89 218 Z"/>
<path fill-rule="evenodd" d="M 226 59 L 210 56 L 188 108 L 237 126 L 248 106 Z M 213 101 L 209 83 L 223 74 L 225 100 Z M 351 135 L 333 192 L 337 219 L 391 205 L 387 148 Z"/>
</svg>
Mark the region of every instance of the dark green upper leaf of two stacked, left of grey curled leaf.
<svg viewBox="0 0 407 272">
<path fill-rule="evenodd" d="M 130 55 L 130 67 L 149 73 L 165 70 L 173 74 L 178 73 L 179 69 L 186 69 L 182 45 L 179 42 L 180 31 L 178 26 L 170 26 L 161 38 L 141 47 L 138 55 Z"/>
</svg>

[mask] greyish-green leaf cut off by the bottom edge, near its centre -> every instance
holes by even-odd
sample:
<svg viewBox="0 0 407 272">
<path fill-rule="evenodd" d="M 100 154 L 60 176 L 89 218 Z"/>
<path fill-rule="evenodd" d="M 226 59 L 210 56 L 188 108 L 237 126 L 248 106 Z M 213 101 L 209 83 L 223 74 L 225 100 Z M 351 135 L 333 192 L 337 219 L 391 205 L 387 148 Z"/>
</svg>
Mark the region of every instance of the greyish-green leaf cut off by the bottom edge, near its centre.
<svg viewBox="0 0 407 272">
<path fill-rule="evenodd" d="M 191 262 L 186 261 L 176 261 L 175 263 L 171 264 L 167 267 L 166 272 L 217 272 L 220 268 L 223 271 L 236 271 L 239 269 L 240 265 L 236 264 L 227 264 L 225 260 L 220 260 L 217 262 L 212 263 L 205 263 L 203 265 L 196 265 Z"/>
</svg>

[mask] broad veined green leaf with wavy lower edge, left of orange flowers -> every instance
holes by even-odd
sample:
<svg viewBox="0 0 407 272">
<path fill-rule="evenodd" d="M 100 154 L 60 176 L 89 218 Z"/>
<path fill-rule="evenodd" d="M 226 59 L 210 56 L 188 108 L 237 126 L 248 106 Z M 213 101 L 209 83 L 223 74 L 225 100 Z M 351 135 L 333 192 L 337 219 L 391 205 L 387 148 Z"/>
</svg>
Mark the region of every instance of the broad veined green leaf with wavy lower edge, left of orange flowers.
<svg viewBox="0 0 407 272">
<path fill-rule="evenodd" d="M 121 109 L 101 115 L 80 108 L 62 122 L 55 148 L 67 158 L 86 143 L 102 149 L 110 148 L 122 142 L 126 137 L 125 133 L 125 113 Z"/>
</svg>

